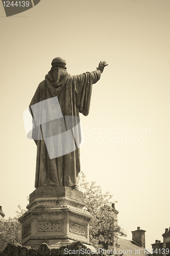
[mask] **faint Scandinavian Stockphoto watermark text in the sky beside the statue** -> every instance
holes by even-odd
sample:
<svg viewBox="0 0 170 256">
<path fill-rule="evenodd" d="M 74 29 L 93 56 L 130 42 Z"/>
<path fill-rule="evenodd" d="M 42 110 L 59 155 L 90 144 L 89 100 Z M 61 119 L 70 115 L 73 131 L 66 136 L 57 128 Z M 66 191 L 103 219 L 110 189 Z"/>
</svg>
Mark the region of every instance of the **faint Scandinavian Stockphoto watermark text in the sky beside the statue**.
<svg viewBox="0 0 170 256">
<path fill-rule="evenodd" d="M 144 138 L 151 134 L 149 127 L 118 127 L 114 125 L 111 128 L 85 127 L 85 142 L 86 143 L 143 143 Z"/>
</svg>

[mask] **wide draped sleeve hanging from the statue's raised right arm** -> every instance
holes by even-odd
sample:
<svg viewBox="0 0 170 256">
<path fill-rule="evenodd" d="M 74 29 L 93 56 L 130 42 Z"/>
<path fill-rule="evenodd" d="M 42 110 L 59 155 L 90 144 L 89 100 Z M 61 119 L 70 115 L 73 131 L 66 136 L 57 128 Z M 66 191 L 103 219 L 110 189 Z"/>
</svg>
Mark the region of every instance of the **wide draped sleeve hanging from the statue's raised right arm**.
<svg viewBox="0 0 170 256">
<path fill-rule="evenodd" d="M 75 86 L 76 105 L 84 116 L 89 114 L 92 84 L 99 81 L 100 77 L 101 72 L 98 70 L 71 77 Z"/>
</svg>

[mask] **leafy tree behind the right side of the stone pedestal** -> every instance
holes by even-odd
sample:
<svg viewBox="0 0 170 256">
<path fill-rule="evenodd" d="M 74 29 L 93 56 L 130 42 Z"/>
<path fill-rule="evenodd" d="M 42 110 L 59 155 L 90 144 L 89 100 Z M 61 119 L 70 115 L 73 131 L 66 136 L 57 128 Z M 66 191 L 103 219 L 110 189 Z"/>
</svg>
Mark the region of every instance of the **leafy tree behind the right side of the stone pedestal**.
<svg viewBox="0 0 170 256">
<path fill-rule="evenodd" d="M 115 221 L 110 201 L 112 195 L 109 192 L 102 194 L 101 186 L 95 182 L 89 184 L 82 172 L 78 176 L 78 189 L 83 192 L 84 209 L 93 216 L 90 221 L 90 242 L 94 248 L 109 248 L 115 234 L 126 236 Z"/>
</svg>

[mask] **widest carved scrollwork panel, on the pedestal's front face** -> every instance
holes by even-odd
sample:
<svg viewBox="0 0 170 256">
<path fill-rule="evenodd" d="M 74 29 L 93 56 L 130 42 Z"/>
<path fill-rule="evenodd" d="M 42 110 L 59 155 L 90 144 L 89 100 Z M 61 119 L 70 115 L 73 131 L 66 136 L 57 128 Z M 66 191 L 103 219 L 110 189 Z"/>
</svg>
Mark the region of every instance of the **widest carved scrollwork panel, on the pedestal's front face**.
<svg viewBox="0 0 170 256">
<path fill-rule="evenodd" d="M 38 221 L 38 232 L 62 231 L 62 221 Z"/>
</svg>

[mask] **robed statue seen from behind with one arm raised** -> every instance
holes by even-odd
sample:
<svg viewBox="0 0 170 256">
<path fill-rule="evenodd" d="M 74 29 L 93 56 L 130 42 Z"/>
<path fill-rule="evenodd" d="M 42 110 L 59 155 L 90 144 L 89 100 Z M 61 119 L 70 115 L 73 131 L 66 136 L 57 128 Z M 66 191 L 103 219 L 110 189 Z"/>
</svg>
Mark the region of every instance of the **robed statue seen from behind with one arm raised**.
<svg viewBox="0 0 170 256">
<path fill-rule="evenodd" d="M 79 113 L 88 115 L 92 84 L 100 79 L 107 64 L 100 62 L 96 71 L 75 76 L 68 74 L 65 66 L 63 58 L 53 59 L 52 69 L 39 84 L 29 106 L 32 138 L 37 145 L 36 188 L 76 187 L 80 172 Z M 69 138 L 72 144 L 68 143 Z"/>
</svg>

